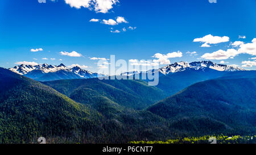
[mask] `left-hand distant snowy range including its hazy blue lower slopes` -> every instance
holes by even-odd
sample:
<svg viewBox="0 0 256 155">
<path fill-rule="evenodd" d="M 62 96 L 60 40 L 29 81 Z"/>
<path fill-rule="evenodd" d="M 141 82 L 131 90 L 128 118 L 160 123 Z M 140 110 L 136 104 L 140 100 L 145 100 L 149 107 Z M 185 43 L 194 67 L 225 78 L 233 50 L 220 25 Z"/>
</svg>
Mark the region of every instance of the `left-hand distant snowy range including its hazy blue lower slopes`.
<svg viewBox="0 0 256 155">
<path fill-rule="evenodd" d="M 79 79 L 79 78 L 96 78 L 101 74 L 92 73 L 88 70 L 81 69 L 79 66 L 67 68 L 60 64 L 59 66 L 40 64 L 40 65 L 19 65 L 9 70 L 20 75 L 35 79 L 37 81 L 53 81 L 58 79 Z"/>
</svg>

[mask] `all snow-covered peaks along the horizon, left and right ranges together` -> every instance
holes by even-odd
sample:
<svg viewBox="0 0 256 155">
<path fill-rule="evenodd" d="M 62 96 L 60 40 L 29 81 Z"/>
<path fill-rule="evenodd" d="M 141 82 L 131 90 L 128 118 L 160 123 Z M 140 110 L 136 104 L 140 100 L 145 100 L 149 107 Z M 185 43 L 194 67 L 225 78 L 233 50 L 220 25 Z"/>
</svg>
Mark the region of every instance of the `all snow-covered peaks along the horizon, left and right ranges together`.
<svg viewBox="0 0 256 155">
<path fill-rule="evenodd" d="M 245 70 L 242 69 L 238 66 L 234 65 L 221 65 L 221 64 L 216 64 L 212 61 L 197 61 L 197 62 L 175 62 L 174 64 L 170 64 L 167 66 L 164 66 L 158 70 L 160 73 L 166 75 L 170 73 L 176 73 L 176 72 L 182 72 L 187 69 L 193 69 L 193 70 L 204 70 L 205 68 L 210 68 L 222 72 L 236 72 L 240 70 Z M 97 74 L 97 73 L 92 73 L 89 72 L 88 70 L 81 69 L 79 66 L 75 66 L 73 68 L 67 68 L 67 66 L 60 64 L 59 66 L 55 65 L 48 65 L 48 64 L 40 64 L 40 65 L 19 65 L 15 66 L 14 68 L 10 68 L 11 71 L 18 73 L 20 75 L 26 76 L 26 74 L 30 73 L 28 77 L 34 77 L 40 78 L 42 77 L 42 74 L 47 74 L 47 73 L 57 73 L 57 71 L 64 70 L 65 72 L 69 73 L 75 73 L 81 78 L 96 78 L 96 77 L 102 77 L 104 75 Z M 152 70 L 153 73 L 156 70 Z M 32 72 L 33 71 L 33 72 Z M 134 76 L 135 74 L 141 74 L 142 72 L 125 72 L 120 74 L 120 76 Z M 144 72 L 146 73 L 146 72 Z M 75 77 L 74 77 L 75 78 Z M 77 77 L 76 77 L 77 78 Z"/>
</svg>

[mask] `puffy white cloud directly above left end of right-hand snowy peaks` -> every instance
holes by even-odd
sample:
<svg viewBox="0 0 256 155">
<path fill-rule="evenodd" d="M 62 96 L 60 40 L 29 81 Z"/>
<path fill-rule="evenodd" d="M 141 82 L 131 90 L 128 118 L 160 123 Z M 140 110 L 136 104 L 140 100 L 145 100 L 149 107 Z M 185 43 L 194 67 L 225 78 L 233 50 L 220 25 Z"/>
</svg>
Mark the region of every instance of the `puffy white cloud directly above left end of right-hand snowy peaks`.
<svg viewBox="0 0 256 155">
<path fill-rule="evenodd" d="M 162 55 L 161 53 L 156 53 L 154 56 L 155 58 L 158 58 L 158 60 L 154 60 L 153 62 L 159 62 L 161 65 L 171 64 L 170 60 L 168 58 L 174 58 L 174 57 L 182 57 L 182 52 L 172 52 L 167 53 L 167 55 Z"/>
</svg>

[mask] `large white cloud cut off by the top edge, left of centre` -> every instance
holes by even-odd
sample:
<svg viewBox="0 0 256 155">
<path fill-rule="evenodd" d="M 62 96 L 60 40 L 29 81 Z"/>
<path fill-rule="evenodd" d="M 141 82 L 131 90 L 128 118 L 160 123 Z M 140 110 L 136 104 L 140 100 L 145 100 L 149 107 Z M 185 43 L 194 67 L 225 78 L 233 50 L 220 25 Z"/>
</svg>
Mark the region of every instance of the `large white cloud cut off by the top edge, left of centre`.
<svg viewBox="0 0 256 155">
<path fill-rule="evenodd" d="M 113 8 L 113 5 L 117 4 L 118 0 L 65 0 L 65 2 L 71 7 L 75 7 L 76 9 L 80 9 L 81 7 L 88 8 L 94 10 L 96 12 L 106 13 L 110 9 Z"/>
</svg>

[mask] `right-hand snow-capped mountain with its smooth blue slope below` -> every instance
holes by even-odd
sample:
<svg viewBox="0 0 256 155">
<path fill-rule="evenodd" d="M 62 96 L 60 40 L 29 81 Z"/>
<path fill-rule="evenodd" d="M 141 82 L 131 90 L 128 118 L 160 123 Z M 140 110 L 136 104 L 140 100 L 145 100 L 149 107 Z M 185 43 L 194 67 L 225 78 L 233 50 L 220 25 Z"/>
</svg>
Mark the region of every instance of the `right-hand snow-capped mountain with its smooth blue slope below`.
<svg viewBox="0 0 256 155">
<path fill-rule="evenodd" d="M 185 87 L 196 82 L 220 78 L 228 73 L 231 75 L 236 74 L 237 72 L 246 73 L 247 71 L 237 66 L 221 65 L 212 61 L 198 61 L 191 63 L 181 61 L 148 72 L 129 72 L 122 73 L 120 76 L 132 76 L 133 79 L 138 76 L 139 79 L 148 82 L 151 80 L 142 77 L 147 77 L 147 73 L 151 74 L 156 72 L 159 74 L 159 83 L 156 87 L 163 90 L 168 95 L 174 95 L 178 91 L 185 89 Z"/>
</svg>

